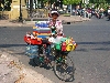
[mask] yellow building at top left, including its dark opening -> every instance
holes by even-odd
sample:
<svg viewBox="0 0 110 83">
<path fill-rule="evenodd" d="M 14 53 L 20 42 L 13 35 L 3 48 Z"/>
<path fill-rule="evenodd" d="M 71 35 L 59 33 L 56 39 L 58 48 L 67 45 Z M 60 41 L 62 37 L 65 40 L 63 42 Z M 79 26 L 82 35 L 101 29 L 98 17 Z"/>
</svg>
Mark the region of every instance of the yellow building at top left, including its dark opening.
<svg viewBox="0 0 110 83">
<path fill-rule="evenodd" d="M 6 15 L 9 20 L 16 20 L 20 17 L 20 0 L 2 0 L 0 2 L 1 15 Z M 22 18 L 28 18 L 28 9 L 25 0 L 21 0 L 21 13 Z"/>
</svg>

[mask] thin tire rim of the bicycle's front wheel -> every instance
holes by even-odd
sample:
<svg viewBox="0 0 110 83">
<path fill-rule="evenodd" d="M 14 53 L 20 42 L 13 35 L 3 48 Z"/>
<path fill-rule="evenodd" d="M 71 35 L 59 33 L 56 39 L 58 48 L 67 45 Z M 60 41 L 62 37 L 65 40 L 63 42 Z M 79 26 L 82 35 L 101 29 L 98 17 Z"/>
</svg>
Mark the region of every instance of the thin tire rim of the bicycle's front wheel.
<svg viewBox="0 0 110 83">
<path fill-rule="evenodd" d="M 73 60 L 72 60 L 69 56 L 67 56 L 67 58 L 70 60 L 70 64 L 72 64 L 72 68 L 73 68 L 72 74 L 70 74 L 69 77 L 64 79 L 64 77 L 59 76 L 58 72 L 56 71 L 56 69 L 57 69 L 57 63 L 56 63 L 56 62 L 55 62 L 55 64 L 54 64 L 54 66 L 53 66 L 53 70 L 54 70 L 55 75 L 56 75 L 59 80 L 69 82 L 69 81 L 74 81 L 75 68 L 74 68 L 74 62 L 73 62 Z M 62 65 L 59 65 L 59 66 L 62 66 Z M 67 65 L 67 66 L 69 66 L 69 65 Z"/>
</svg>

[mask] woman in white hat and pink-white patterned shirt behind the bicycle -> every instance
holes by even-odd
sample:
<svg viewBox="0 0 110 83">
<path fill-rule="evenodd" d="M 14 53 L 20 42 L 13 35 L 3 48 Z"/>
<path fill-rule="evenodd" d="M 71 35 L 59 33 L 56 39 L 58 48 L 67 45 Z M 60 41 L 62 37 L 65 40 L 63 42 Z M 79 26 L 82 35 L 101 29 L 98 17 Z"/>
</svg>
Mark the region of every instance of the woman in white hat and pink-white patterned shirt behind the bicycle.
<svg viewBox="0 0 110 83">
<path fill-rule="evenodd" d="M 57 20 L 59 17 L 57 11 L 51 12 L 52 20 L 50 21 L 50 28 L 52 29 L 52 33 L 63 33 L 63 24 L 62 21 Z"/>
</svg>

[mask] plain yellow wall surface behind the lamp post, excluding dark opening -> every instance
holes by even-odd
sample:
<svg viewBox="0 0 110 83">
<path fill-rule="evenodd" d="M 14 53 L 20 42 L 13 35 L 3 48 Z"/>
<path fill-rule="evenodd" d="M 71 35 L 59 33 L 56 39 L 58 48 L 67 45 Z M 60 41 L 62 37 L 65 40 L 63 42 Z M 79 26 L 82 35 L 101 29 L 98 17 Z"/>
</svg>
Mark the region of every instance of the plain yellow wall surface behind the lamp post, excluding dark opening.
<svg viewBox="0 0 110 83">
<path fill-rule="evenodd" d="M 21 0 L 22 6 L 22 18 L 28 18 L 28 10 L 26 4 L 24 2 L 25 0 Z M 11 11 L 3 11 L 3 14 L 9 14 L 9 20 L 16 20 L 20 17 L 20 0 L 12 0 L 11 3 Z"/>
</svg>

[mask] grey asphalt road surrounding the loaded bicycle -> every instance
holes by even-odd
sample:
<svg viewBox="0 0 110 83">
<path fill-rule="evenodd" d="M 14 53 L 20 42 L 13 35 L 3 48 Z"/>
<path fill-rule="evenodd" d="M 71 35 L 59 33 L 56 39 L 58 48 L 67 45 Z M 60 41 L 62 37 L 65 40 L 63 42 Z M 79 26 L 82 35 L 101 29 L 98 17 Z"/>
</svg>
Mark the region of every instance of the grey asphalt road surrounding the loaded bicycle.
<svg viewBox="0 0 110 83">
<path fill-rule="evenodd" d="M 32 31 L 32 28 L 0 28 L 0 50 L 13 51 L 13 55 L 29 68 L 55 83 L 65 83 L 52 70 L 30 65 L 30 59 L 24 55 L 23 35 L 26 31 Z M 76 51 L 69 54 L 76 66 L 72 83 L 110 83 L 110 21 L 92 19 L 90 22 L 64 25 L 64 32 L 78 43 Z"/>
</svg>

